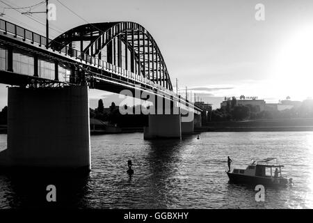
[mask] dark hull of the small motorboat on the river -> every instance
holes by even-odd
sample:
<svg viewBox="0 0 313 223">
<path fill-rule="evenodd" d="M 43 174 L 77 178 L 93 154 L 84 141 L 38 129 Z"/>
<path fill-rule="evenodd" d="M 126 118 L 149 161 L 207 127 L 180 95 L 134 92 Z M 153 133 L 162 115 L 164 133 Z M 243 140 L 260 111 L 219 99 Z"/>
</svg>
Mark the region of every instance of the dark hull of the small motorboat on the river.
<svg viewBox="0 0 313 223">
<path fill-rule="evenodd" d="M 248 176 L 243 174 L 234 174 L 226 172 L 230 183 L 239 183 L 246 185 L 271 185 L 271 186 L 284 186 L 287 185 L 287 178 L 273 178 L 273 177 L 260 177 Z"/>
</svg>

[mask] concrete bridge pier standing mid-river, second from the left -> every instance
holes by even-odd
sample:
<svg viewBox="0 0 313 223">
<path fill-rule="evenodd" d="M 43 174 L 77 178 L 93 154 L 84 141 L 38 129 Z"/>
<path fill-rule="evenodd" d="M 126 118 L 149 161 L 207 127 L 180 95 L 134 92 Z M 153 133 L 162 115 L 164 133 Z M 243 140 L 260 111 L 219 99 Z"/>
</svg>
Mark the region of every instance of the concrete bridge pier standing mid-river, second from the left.
<svg viewBox="0 0 313 223">
<path fill-rule="evenodd" d="M 144 139 L 181 139 L 180 114 L 150 114 L 149 126 L 143 132 Z"/>
</svg>

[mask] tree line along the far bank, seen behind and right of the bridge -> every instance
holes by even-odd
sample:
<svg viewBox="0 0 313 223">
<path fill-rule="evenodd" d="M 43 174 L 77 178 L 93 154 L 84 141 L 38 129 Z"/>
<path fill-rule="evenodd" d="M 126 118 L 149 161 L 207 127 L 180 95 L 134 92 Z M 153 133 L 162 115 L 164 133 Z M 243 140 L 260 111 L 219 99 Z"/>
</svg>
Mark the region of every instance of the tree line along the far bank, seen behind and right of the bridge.
<svg viewBox="0 0 313 223">
<path fill-rule="evenodd" d="M 109 108 L 104 108 L 102 99 L 98 101 L 98 107 L 90 108 L 90 118 L 97 118 L 119 127 L 143 127 L 148 125 L 148 116 L 135 114 L 135 110 L 141 111 L 141 105 L 131 107 L 133 114 L 120 114 L 119 107 L 114 102 Z M 125 105 L 127 109 L 127 105 Z M 257 119 L 277 118 L 313 118 L 313 100 L 304 100 L 300 106 L 283 111 L 260 111 L 256 105 L 236 105 L 236 98 L 227 100 L 227 105 L 220 109 L 214 109 L 208 114 L 210 121 L 243 121 Z M 8 107 L 3 107 L 0 112 L 0 125 L 8 123 Z"/>
</svg>

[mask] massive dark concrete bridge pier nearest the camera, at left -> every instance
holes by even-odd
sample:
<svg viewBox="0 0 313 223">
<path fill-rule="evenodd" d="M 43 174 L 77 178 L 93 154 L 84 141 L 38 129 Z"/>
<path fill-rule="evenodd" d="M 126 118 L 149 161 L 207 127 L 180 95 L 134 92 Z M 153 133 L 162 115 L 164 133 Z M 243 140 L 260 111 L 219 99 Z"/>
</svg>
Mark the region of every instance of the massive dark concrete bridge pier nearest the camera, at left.
<svg viewBox="0 0 313 223">
<path fill-rule="evenodd" d="M 88 87 L 9 88 L 8 148 L 0 155 L 8 167 L 90 171 Z"/>
</svg>

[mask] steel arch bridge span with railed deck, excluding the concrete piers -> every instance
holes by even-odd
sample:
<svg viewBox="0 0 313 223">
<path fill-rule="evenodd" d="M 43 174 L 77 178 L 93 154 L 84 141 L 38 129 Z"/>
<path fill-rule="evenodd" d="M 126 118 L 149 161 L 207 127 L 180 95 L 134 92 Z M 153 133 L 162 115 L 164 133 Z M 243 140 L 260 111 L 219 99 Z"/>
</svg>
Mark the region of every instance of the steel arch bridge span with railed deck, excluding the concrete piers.
<svg viewBox="0 0 313 223">
<path fill-rule="evenodd" d="M 177 102 L 183 110 L 202 112 L 172 91 L 161 50 L 135 22 L 83 24 L 47 41 L 0 19 L 0 52 L 2 84 L 34 88 L 88 84 L 90 89 L 112 93 L 129 90 L 135 97 L 138 90 Z M 25 66 L 26 72 L 19 69 Z"/>
</svg>

